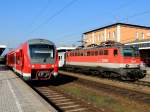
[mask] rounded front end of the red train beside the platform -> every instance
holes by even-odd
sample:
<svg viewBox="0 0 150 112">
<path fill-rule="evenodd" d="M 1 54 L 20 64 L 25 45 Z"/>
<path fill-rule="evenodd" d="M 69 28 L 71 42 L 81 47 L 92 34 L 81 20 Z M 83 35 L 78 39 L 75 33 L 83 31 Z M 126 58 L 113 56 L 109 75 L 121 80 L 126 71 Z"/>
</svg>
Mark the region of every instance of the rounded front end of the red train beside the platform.
<svg viewBox="0 0 150 112">
<path fill-rule="evenodd" d="M 28 41 L 28 55 L 31 80 L 48 80 L 58 75 L 58 54 L 51 41 Z"/>
</svg>

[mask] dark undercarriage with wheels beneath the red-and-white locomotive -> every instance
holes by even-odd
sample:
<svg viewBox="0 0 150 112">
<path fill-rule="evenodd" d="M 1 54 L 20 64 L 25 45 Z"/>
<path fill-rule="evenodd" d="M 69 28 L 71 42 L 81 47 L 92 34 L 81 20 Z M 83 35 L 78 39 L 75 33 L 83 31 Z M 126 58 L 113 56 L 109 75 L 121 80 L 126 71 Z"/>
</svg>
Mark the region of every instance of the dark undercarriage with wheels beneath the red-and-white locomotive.
<svg viewBox="0 0 150 112">
<path fill-rule="evenodd" d="M 87 75 L 96 75 L 103 78 L 116 78 L 123 81 L 136 81 L 144 78 L 146 75 L 146 70 L 139 68 L 104 68 L 65 65 L 62 69 Z"/>
</svg>

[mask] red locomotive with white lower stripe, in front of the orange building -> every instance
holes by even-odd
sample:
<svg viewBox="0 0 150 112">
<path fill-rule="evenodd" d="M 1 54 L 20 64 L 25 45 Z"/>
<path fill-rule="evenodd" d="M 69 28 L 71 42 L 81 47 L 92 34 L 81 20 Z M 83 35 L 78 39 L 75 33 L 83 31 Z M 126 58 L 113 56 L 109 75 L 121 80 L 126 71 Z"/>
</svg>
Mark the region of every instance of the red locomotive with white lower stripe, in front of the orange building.
<svg viewBox="0 0 150 112">
<path fill-rule="evenodd" d="M 67 52 L 65 67 L 122 80 L 137 80 L 146 75 L 137 50 L 111 41 L 103 43 L 101 47 Z"/>
</svg>

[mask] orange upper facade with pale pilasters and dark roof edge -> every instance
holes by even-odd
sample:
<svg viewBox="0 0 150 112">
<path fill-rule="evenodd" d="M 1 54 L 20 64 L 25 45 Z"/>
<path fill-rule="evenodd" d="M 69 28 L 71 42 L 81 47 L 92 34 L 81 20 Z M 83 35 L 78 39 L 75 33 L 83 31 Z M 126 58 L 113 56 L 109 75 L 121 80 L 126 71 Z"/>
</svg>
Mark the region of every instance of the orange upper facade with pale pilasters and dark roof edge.
<svg viewBox="0 0 150 112">
<path fill-rule="evenodd" d="M 107 40 L 125 44 L 147 39 L 150 39 L 150 27 L 126 23 L 115 23 L 83 33 L 85 46 L 91 44 L 99 45 Z"/>
</svg>

